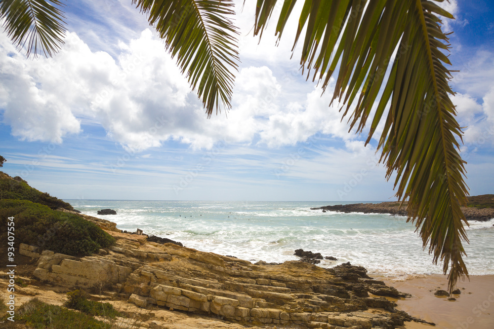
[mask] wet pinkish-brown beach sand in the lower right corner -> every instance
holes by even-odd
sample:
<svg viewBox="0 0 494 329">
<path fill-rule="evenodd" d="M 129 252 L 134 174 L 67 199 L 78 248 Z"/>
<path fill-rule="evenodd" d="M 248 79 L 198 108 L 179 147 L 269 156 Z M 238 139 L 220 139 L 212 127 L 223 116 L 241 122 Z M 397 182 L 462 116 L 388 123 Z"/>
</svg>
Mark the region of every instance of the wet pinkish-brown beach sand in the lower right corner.
<svg viewBox="0 0 494 329">
<path fill-rule="evenodd" d="M 436 324 L 433 327 L 407 322 L 405 329 L 494 329 L 494 275 L 471 275 L 470 281 L 460 280 L 457 287 L 461 294 L 453 295 L 455 301 L 434 295 L 437 290 L 447 290 L 447 276 L 428 275 L 406 281 L 380 280 L 401 292 L 412 294 L 411 298 L 393 299 L 399 310 Z"/>
</svg>

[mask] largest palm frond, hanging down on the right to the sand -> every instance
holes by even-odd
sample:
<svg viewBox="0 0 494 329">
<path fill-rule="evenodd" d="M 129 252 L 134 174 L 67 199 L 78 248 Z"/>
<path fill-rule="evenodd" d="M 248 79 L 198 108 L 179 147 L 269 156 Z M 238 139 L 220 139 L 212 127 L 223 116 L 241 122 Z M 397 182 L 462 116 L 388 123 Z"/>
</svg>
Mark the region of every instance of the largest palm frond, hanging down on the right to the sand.
<svg viewBox="0 0 494 329">
<path fill-rule="evenodd" d="M 284 2 L 276 29 L 280 37 L 295 2 Z M 257 1 L 255 34 L 262 33 L 275 4 Z M 339 66 L 333 100 L 346 104 L 343 115 L 354 109 L 350 130 L 362 132 L 377 104 L 366 144 L 389 107 L 377 147 L 386 178 L 396 175 L 396 196 L 409 199 L 408 220 L 415 222 L 433 261 L 443 261 L 445 274 L 451 264 L 452 292 L 458 278 L 468 275 L 462 259 L 462 240 L 468 242 L 463 223 L 468 223 L 460 210 L 467 187 L 456 140 L 462 132 L 444 66 L 451 64 L 443 53 L 448 38 L 436 15 L 453 18 L 427 0 L 305 0 L 295 44 L 303 40 L 300 64 L 323 89 Z"/>
</svg>

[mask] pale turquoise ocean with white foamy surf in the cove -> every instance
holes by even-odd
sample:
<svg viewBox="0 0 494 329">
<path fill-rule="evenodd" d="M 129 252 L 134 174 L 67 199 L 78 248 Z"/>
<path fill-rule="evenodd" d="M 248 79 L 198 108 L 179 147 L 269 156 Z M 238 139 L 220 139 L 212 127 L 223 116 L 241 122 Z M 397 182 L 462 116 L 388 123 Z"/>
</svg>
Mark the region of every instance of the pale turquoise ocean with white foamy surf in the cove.
<svg viewBox="0 0 494 329">
<path fill-rule="evenodd" d="M 140 228 L 185 247 L 253 263 L 296 260 L 294 251 L 303 249 L 338 258 L 321 260 L 322 267 L 349 261 L 393 279 L 442 273 L 406 217 L 310 210 L 342 202 L 65 201 L 83 214 L 116 222 L 122 230 Z M 117 215 L 97 215 L 106 208 Z M 494 219 L 469 223 L 470 244 L 464 243 L 469 274 L 494 274 Z"/>
</svg>

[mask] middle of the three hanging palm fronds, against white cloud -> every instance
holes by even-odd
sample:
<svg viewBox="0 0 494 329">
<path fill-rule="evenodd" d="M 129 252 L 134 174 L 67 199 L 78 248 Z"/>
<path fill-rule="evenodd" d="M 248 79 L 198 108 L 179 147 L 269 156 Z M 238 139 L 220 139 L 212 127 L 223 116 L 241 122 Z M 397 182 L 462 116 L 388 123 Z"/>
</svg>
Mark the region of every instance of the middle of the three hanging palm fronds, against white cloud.
<svg viewBox="0 0 494 329">
<path fill-rule="evenodd" d="M 219 102 L 231 108 L 237 70 L 237 28 L 229 16 L 232 0 L 132 0 L 177 57 L 182 73 L 197 90 L 208 117 Z"/>
</svg>

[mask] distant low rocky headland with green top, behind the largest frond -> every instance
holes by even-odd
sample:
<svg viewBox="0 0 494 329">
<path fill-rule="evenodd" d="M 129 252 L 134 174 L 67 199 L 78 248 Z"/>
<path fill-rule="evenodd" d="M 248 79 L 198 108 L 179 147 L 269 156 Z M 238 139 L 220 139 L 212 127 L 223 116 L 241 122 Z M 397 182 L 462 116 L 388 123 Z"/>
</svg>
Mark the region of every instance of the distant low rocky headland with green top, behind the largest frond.
<svg viewBox="0 0 494 329">
<path fill-rule="evenodd" d="M 470 201 L 482 200 L 482 201 Z M 494 195 L 486 194 L 469 197 L 467 207 L 461 207 L 461 211 L 467 220 L 488 221 L 494 218 Z M 354 203 L 348 205 L 324 206 L 311 208 L 311 210 L 336 211 L 341 213 L 364 213 L 364 214 L 390 214 L 407 216 L 407 202 L 380 202 L 380 203 Z"/>
</svg>

